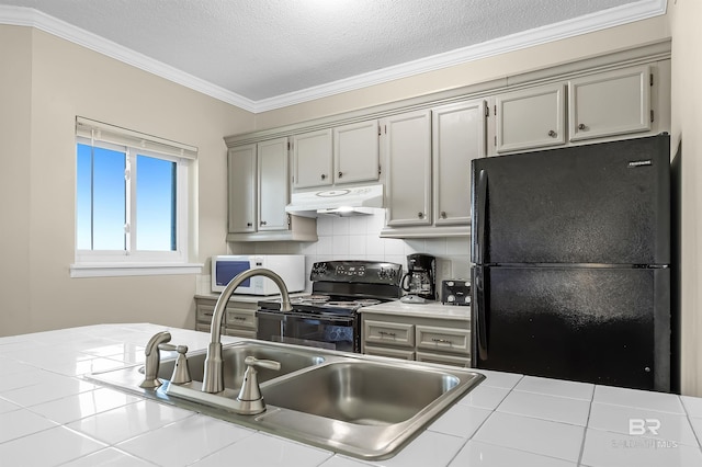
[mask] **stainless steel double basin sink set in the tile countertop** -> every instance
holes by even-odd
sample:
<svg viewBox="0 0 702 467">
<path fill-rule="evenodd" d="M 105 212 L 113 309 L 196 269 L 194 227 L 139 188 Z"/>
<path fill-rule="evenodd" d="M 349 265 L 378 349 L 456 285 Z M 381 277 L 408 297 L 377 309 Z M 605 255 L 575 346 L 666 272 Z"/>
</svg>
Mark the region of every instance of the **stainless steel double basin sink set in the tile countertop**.
<svg viewBox="0 0 702 467">
<path fill-rule="evenodd" d="M 258 369 L 267 406 L 240 415 L 227 409 L 242 385 L 247 356 L 272 360 L 280 371 Z M 192 381 L 171 385 L 174 358 L 163 360 L 158 389 L 141 389 L 144 367 L 97 373 L 89 378 L 179 407 L 364 459 L 394 456 L 485 377 L 465 368 L 329 352 L 273 342 L 245 341 L 223 350 L 225 390 L 200 390 L 203 352 L 188 355 Z"/>
</svg>

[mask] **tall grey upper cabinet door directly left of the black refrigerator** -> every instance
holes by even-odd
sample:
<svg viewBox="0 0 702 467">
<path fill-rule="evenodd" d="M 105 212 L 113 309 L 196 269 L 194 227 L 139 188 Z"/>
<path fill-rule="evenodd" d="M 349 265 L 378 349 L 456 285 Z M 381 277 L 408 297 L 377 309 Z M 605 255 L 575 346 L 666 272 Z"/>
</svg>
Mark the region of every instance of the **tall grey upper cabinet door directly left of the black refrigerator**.
<svg viewBox="0 0 702 467">
<path fill-rule="evenodd" d="M 485 106 L 479 100 L 431 111 L 437 226 L 471 223 L 471 160 L 485 157 Z"/>
</svg>

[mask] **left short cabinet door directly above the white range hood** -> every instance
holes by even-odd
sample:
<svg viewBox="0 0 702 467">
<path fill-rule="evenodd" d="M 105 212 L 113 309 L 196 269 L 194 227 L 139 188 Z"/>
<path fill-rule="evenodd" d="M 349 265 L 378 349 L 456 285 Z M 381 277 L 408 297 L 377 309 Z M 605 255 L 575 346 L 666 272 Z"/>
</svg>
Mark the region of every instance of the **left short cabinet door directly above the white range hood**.
<svg viewBox="0 0 702 467">
<path fill-rule="evenodd" d="M 331 129 L 293 136 L 293 187 L 331 185 Z"/>
</svg>

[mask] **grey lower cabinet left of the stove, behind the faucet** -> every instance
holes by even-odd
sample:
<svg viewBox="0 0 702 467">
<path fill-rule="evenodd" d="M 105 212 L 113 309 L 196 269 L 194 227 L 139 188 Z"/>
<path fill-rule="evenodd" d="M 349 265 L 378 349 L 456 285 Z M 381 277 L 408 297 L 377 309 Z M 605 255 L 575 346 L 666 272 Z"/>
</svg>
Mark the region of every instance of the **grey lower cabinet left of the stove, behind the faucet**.
<svg viewBox="0 0 702 467">
<path fill-rule="evenodd" d="M 195 298 L 197 309 L 195 330 L 210 332 L 216 303 L 216 298 Z M 237 338 L 256 339 L 258 331 L 257 309 L 257 303 L 229 300 L 222 318 L 223 333 Z"/>
</svg>

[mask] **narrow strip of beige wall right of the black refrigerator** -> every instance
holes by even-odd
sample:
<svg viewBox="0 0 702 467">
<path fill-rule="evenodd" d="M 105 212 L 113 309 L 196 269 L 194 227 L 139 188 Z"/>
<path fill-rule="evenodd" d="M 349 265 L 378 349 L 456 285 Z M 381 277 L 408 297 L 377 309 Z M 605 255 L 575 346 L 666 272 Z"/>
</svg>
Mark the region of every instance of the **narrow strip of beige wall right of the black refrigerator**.
<svg viewBox="0 0 702 467">
<path fill-rule="evenodd" d="M 673 150 L 681 157 L 682 392 L 702 396 L 702 2 L 668 2 L 672 32 Z"/>
</svg>

